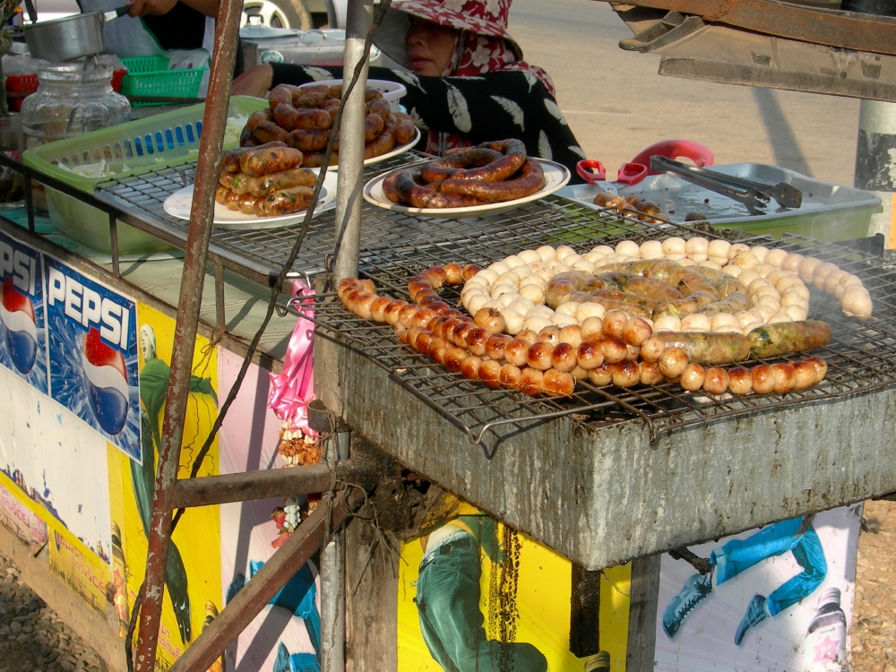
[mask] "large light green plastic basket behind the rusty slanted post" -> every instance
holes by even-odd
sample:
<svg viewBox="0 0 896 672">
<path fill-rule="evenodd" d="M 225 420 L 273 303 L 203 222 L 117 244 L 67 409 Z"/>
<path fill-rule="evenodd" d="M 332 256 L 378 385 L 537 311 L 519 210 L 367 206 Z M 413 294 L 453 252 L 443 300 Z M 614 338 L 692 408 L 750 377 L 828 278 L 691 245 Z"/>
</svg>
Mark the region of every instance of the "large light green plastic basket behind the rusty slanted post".
<svg viewBox="0 0 896 672">
<path fill-rule="evenodd" d="M 248 116 L 267 105 L 268 101 L 264 99 L 234 96 L 230 99 L 228 116 Z M 98 182 L 113 177 L 195 160 L 199 154 L 204 109 L 204 105 L 192 105 L 93 133 L 47 142 L 26 151 L 22 162 L 92 194 Z M 225 145 L 225 149 L 232 146 L 235 145 Z M 98 164 L 105 168 L 103 177 L 86 177 L 62 168 Z M 108 215 L 55 189 L 47 189 L 47 203 L 50 220 L 65 235 L 108 253 Z M 159 238 L 118 222 L 121 254 L 151 253 L 166 248 L 168 245 Z"/>
</svg>

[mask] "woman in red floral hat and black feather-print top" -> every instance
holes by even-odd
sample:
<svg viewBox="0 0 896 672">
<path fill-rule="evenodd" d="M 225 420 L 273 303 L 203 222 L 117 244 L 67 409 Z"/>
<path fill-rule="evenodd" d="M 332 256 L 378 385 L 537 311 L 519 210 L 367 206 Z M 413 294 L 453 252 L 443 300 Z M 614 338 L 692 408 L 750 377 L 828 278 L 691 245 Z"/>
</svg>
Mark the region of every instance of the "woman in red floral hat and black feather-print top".
<svg viewBox="0 0 896 672">
<path fill-rule="evenodd" d="M 564 164 L 577 179 L 582 148 L 566 124 L 547 73 L 522 60 L 507 34 L 511 0 L 392 0 L 374 43 L 412 72 L 370 68 L 370 79 L 401 82 L 401 99 L 424 135 L 424 151 L 518 138 L 531 156 Z M 340 79 L 341 67 L 258 65 L 233 82 L 234 95 L 263 96 L 280 83 Z"/>
</svg>

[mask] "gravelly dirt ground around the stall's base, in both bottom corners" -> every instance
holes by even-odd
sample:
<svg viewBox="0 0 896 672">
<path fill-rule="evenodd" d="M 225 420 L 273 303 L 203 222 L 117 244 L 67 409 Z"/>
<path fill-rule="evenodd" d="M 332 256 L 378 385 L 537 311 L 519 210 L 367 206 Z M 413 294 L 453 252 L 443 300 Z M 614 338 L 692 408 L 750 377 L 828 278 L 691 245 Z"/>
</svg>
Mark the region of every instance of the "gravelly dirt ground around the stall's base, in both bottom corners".
<svg viewBox="0 0 896 672">
<path fill-rule="evenodd" d="M 896 672 L 896 502 L 868 502 L 858 542 L 852 672 Z M 0 672 L 105 666 L 0 554 Z"/>
</svg>

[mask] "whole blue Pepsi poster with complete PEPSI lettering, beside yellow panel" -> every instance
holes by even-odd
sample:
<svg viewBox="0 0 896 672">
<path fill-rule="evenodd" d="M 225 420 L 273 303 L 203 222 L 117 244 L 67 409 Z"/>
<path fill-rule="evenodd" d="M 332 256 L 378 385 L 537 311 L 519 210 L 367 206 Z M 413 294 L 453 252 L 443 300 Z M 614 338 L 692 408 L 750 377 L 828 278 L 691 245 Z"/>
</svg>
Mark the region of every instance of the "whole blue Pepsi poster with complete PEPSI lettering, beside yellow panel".
<svg viewBox="0 0 896 672">
<path fill-rule="evenodd" d="M 50 396 L 142 460 L 134 299 L 44 255 Z"/>
</svg>

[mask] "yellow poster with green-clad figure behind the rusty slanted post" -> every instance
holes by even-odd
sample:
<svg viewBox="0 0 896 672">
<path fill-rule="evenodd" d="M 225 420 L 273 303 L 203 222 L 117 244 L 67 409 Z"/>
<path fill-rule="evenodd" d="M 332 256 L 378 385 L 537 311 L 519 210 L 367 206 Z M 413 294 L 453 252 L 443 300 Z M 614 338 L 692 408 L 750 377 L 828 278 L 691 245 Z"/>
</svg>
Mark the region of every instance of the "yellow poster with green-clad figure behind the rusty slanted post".
<svg viewBox="0 0 896 672">
<path fill-rule="evenodd" d="M 143 464 L 137 464 L 115 446 L 108 445 L 112 574 L 115 605 L 123 625 L 134 606 L 146 564 L 147 530 L 175 326 L 172 318 L 142 304 L 137 306 L 137 320 Z M 194 459 L 218 413 L 218 353 L 202 336 L 196 339 L 190 389 L 180 478 L 190 475 Z M 218 473 L 216 439 L 198 475 Z M 220 608 L 219 507 L 188 509 L 168 547 L 156 668 L 170 668 Z"/>
</svg>

